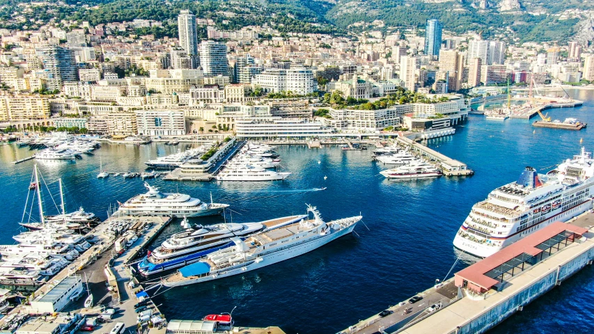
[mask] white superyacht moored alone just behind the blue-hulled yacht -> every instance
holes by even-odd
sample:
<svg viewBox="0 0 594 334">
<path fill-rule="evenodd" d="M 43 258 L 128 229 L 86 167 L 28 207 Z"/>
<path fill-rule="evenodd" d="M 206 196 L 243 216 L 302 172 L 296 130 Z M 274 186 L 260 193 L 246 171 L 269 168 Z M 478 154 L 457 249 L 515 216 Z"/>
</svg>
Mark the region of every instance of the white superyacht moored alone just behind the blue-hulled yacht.
<svg viewBox="0 0 594 334">
<path fill-rule="evenodd" d="M 123 214 L 143 214 L 153 216 L 198 217 L 221 214 L 227 204 L 205 203 L 183 193 L 162 193 L 155 186 L 144 183 L 148 192 L 136 195 L 120 203 L 119 212 Z"/>
</svg>

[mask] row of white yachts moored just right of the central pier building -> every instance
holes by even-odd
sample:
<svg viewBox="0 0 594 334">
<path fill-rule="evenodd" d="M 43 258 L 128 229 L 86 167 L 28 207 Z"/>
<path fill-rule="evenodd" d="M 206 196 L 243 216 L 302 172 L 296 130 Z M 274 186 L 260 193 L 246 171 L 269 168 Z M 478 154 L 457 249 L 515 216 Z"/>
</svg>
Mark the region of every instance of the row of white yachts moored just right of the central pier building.
<svg viewBox="0 0 594 334">
<path fill-rule="evenodd" d="M 247 143 L 227 161 L 223 170 L 215 177 L 218 181 L 275 181 L 285 180 L 291 173 L 278 172 L 281 160 L 271 146 Z"/>
</svg>

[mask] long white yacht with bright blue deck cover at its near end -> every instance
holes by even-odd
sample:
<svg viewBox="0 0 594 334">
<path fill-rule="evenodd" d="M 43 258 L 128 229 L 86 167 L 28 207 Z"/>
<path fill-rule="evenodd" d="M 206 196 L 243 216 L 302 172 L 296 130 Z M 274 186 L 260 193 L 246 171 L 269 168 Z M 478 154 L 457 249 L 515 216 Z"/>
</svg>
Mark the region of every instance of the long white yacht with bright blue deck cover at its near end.
<svg viewBox="0 0 594 334">
<path fill-rule="evenodd" d="M 326 223 L 315 207 L 308 205 L 308 212 L 313 214 L 313 219 L 253 234 L 245 240 L 234 237 L 234 246 L 217 250 L 179 269 L 164 278 L 162 285 L 178 287 L 207 282 L 297 257 L 349 234 L 362 218 L 354 216 Z"/>
</svg>

